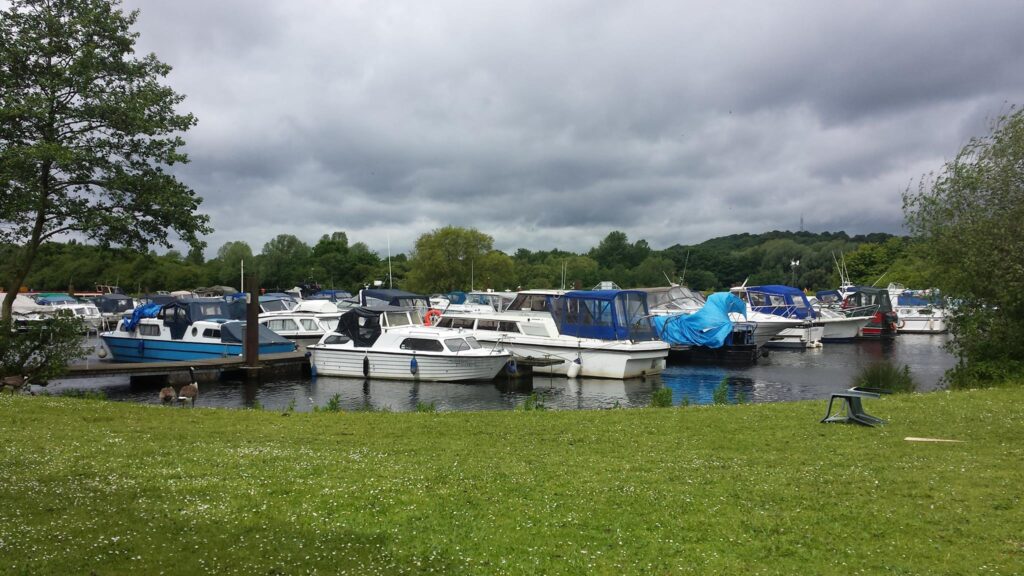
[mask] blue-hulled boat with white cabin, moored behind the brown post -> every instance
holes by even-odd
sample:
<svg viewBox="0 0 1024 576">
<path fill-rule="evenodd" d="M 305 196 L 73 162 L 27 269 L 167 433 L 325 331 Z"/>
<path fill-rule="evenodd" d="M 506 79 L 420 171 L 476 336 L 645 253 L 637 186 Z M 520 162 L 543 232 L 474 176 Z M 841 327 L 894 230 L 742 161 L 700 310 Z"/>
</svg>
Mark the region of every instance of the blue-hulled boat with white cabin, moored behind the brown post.
<svg viewBox="0 0 1024 576">
<path fill-rule="evenodd" d="M 240 320 L 245 301 L 185 298 L 166 304 L 146 304 L 99 335 L 117 362 L 167 362 L 242 356 L 246 323 Z M 295 351 L 295 342 L 259 327 L 259 353 Z M 104 354 L 105 353 L 105 354 Z"/>
</svg>

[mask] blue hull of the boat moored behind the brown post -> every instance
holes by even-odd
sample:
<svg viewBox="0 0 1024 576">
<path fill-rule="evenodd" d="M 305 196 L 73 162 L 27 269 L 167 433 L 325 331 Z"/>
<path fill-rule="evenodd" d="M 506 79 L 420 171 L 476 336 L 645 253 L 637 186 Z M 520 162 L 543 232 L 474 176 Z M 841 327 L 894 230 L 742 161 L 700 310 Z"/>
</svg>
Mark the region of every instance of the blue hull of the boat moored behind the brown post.
<svg viewBox="0 0 1024 576">
<path fill-rule="evenodd" d="M 226 342 L 191 342 L 158 338 L 131 338 L 101 334 L 103 345 L 116 362 L 176 362 L 183 360 L 210 360 L 242 356 L 243 346 Z M 295 344 L 260 344 L 259 353 L 278 354 L 294 352 Z"/>
</svg>

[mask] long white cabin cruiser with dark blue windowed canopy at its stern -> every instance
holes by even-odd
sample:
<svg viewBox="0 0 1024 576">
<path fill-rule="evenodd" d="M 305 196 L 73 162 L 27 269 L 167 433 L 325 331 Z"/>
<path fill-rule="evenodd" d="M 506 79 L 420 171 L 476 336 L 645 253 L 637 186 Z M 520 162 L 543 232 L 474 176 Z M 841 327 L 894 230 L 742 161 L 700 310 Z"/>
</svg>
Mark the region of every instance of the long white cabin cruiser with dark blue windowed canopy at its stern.
<svg viewBox="0 0 1024 576">
<path fill-rule="evenodd" d="M 638 290 L 526 290 L 503 313 L 450 312 L 437 325 L 500 342 L 516 358 L 554 361 L 534 372 L 570 378 L 658 374 L 669 354 L 651 325 L 647 295 Z"/>
</svg>

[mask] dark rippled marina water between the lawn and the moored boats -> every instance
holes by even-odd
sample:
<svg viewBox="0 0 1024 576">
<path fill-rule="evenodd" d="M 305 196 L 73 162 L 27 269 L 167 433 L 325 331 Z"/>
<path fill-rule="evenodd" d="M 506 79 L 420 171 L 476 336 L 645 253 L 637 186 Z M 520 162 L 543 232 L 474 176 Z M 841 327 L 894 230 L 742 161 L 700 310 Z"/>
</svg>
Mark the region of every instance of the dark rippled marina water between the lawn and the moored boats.
<svg viewBox="0 0 1024 576">
<path fill-rule="evenodd" d="M 901 334 L 890 341 L 826 343 L 822 348 L 772 351 L 757 365 L 726 367 L 670 365 L 644 380 L 605 380 L 534 376 L 510 381 L 500 376 L 486 383 L 364 381 L 359 378 L 290 377 L 259 384 L 219 381 L 201 384 L 197 406 L 309 411 L 337 396 L 342 410 L 411 411 L 433 405 L 438 411 L 511 410 L 536 394 L 545 407 L 557 410 L 642 407 L 659 387 L 672 390 L 675 404 L 710 404 L 720 382 L 728 383 L 729 402 L 784 402 L 827 399 L 852 385 L 856 373 L 871 362 L 906 365 L 927 392 L 941 386 L 943 373 L 955 359 L 943 348 L 946 335 Z M 134 386 L 128 377 L 68 379 L 52 382 L 49 394 L 68 389 L 102 392 L 108 399 L 158 404 L 157 389 Z"/>
</svg>

